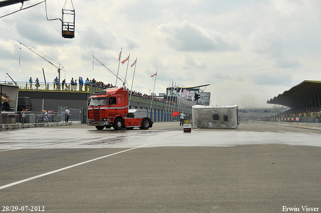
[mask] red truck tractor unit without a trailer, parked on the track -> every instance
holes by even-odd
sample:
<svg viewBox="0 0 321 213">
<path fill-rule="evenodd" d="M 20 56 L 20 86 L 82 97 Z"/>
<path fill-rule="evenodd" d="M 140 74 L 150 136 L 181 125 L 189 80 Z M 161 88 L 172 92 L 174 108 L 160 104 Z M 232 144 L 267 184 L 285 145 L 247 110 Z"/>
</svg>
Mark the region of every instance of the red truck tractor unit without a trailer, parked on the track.
<svg viewBox="0 0 321 213">
<path fill-rule="evenodd" d="M 111 126 L 116 130 L 152 127 L 146 109 L 128 110 L 128 107 L 128 92 L 122 87 L 96 92 L 90 97 L 87 125 L 98 130 Z"/>
</svg>

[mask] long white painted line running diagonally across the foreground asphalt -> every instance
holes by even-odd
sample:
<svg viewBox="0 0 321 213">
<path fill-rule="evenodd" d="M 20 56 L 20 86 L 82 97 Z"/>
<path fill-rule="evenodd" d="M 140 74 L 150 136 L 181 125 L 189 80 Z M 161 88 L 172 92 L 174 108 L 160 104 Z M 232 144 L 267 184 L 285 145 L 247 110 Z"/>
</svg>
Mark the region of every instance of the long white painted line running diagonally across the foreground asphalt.
<svg viewBox="0 0 321 213">
<path fill-rule="evenodd" d="M 7 185 L 0 186 L 0 189 L 8 188 L 8 187 L 13 186 L 13 185 L 17 185 L 17 184 L 20 184 L 20 183 L 23 183 L 23 182 L 27 182 L 29 180 L 33 180 L 33 179 L 36 179 L 36 178 L 39 178 L 39 177 L 43 177 L 43 176 L 46 176 L 46 175 L 49 175 L 49 174 L 53 174 L 53 173 L 56 173 L 56 172 L 59 172 L 59 171 L 63 171 L 63 170 L 69 169 L 69 168 L 73 168 L 73 167 L 79 166 L 79 165 L 83 165 L 85 163 L 90 163 L 92 161 L 100 160 L 100 159 L 105 158 L 105 157 L 110 157 L 112 155 L 120 154 L 120 153 L 123 153 L 123 152 L 126 152 L 126 151 L 130 151 L 130 150 L 137 149 L 137 148 L 140 148 L 140 147 L 143 147 L 143 146 L 147 146 L 147 145 L 155 143 L 155 142 L 156 141 L 151 142 L 151 143 L 147 143 L 147 144 L 144 144 L 144 145 L 141 145 L 141 146 L 137 146 L 137 147 L 134 147 L 134 148 L 130 148 L 130 149 L 122 150 L 122 151 L 119 151 L 119 152 L 115 152 L 115 153 L 112 153 L 112 154 L 108 154 L 108 155 L 105 155 L 105 156 L 102 156 L 102 157 L 97 157 L 97 158 L 94 158 L 94 159 L 91 159 L 91 160 L 87 160 L 87 161 L 84 161 L 84 162 L 81 162 L 81 163 L 70 165 L 70 166 L 67 166 L 67 167 L 64 167 L 64 168 L 60 168 L 60 169 L 57 169 L 57 170 L 54 170 L 54 171 L 50 171 L 50 172 L 47 172 L 47 173 L 44 173 L 44 174 L 40 174 L 40 175 L 37 175 L 37 176 L 29 177 L 27 179 L 19 180 L 19 181 L 16 181 L 16 182 L 13 182 L 13 183 L 10 183 L 10 184 L 7 184 Z"/>
</svg>

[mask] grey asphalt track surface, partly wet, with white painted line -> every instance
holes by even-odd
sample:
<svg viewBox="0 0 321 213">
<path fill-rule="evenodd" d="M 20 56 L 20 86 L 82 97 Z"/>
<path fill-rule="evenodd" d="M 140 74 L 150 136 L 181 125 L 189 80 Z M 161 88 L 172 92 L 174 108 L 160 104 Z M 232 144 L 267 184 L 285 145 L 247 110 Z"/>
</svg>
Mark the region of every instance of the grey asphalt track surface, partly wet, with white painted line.
<svg viewBox="0 0 321 213">
<path fill-rule="evenodd" d="M 321 211 L 320 136 L 256 122 L 190 133 L 178 122 L 3 130 L 0 210 Z"/>
</svg>

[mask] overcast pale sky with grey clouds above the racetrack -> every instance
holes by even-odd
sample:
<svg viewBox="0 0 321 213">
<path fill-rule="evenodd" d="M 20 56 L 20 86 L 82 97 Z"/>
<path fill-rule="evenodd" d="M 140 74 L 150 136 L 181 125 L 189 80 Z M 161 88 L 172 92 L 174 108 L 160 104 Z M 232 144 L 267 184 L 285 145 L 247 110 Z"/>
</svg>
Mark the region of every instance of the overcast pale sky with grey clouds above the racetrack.
<svg viewBox="0 0 321 213">
<path fill-rule="evenodd" d="M 23 9 L 42 2 L 30 0 Z M 62 17 L 65 0 L 47 0 L 48 19 Z M 46 5 L 0 18 L 0 81 L 52 83 L 57 69 L 19 42 L 59 62 L 66 82 L 79 76 L 166 93 L 170 85 L 210 84 L 211 105 L 265 107 L 304 80 L 321 81 L 321 1 L 314 0 L 74 0 L 75 38 Z M 0 17 L 22 4 L 0 8 Z M 67 0 L 65 9 L 72 9 Z M 70 19 L 70 17 L 66 17 Z M 19 42 L 17 42 L 19 41 Z M 135 75 L 130 67 L 137 58 Z M 127 75 L 126 75 L 127 70 Z M 157 71 L 155 77 L 150 77 Z M 154 86 L 155 83 L 155 86 Z M 117 81 L 116 86 L 121 86 Z"/>
</svg>

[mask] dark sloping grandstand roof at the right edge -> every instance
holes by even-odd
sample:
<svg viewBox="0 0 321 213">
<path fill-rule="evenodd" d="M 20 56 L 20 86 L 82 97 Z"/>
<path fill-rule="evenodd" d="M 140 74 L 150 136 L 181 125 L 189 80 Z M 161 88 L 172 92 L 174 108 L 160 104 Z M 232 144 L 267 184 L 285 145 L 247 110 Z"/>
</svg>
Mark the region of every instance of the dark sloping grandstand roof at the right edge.
<svg viewBox="0 0 321 213">
<path fill-rule="evenodd" d="M 279 104 L 294 108 L 299 105 L 319 107 L 321 100 L 321 81 L 303 81 L 278 96 L 274 96 L 266 103 Z"/>
</svg>

